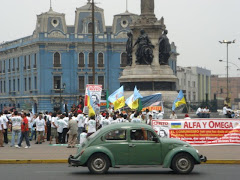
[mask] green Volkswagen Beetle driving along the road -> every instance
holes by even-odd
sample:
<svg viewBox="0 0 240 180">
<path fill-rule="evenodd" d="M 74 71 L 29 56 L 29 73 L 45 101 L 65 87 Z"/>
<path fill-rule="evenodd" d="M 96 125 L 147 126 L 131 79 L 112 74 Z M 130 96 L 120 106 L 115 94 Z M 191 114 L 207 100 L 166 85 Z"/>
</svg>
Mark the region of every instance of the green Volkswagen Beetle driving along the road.
<svg viewBox="0 0 240 180">
<path fill-rule="evenodd" d="M 151 126 L 119 123 L 104 127 L 70 155 L 70 166 L 87 166 L 91 173 L 106 173 L 109 167 L 159 165 L 180 174 L 190 173 L 195 164 L 206 162 L 190 144 L 172 138 L 160 138 Z"/>
</svg>

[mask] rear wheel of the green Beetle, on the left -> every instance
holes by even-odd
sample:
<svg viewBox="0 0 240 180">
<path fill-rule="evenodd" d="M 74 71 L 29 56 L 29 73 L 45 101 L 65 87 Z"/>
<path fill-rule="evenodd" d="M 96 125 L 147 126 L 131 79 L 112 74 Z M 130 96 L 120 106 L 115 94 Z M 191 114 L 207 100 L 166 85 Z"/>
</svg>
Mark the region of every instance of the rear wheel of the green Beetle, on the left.
<svg viewBox="0 0 240 180">
<path fill-rule="evenodd" d="M 87 163 L 88 169 L 94 174 L 105 174 L 110 166 L 108 157 L 104 154 L 94 154 Z"/>
</svg>

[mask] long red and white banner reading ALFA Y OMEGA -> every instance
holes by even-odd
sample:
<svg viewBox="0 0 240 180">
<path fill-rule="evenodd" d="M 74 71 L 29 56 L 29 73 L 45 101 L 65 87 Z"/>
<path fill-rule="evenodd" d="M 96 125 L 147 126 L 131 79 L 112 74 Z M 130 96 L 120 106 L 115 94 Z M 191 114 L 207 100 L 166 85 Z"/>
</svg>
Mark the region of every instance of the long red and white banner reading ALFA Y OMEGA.
<svg viewBox="0 0 240 180">
<path fill-rule="evenodd" d="M 177 138 L 191 145 L 240 145 L 240 120 L 153 120 L 160 137 Z"/>
</svg>

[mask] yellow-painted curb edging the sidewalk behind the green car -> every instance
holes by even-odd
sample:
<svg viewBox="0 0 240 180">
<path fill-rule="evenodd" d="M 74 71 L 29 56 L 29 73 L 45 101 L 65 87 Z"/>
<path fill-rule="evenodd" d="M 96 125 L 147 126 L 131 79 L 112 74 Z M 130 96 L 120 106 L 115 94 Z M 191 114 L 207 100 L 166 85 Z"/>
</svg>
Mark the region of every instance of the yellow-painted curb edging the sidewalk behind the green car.
<svg viewBox="0 0 240 180">
<path fill-rule="evenodd" d="M 59 164 L 68 163 L 66 159 L 51 160 L 0 160 L 0 164 Z M 240 164 L 240 160 L 208 160 L 201 164 Z"/>
</svg>

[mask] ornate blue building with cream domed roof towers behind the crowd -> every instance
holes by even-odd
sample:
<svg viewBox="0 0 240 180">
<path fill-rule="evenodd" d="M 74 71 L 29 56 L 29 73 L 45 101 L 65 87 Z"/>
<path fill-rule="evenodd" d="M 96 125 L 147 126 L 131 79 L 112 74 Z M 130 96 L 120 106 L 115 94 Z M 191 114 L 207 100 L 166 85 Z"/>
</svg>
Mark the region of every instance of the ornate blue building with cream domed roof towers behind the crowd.
<svg viewBox="0 0 240 180">
<path fill-rule="evenodd" d="M 125 12 L 114 16 L 112 26 L 106 26 L 104 10 L 95 7 L 93 55 L 89 2 L 76 9 L 74 25 L 67 25 L 65 14 L 52 8 L 37 15 L 31 36 L 0 45 L 0 110 L 53 111 L 66 101 L 69 106 L 77 104 L 85 85 L 93 84 L 93 56 L 95 83 L 102 84 L 103 93 L 119 88 L 118 78 L 127 63 L 127 32 L 137 18 Z"/>
</svg>

